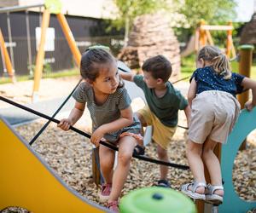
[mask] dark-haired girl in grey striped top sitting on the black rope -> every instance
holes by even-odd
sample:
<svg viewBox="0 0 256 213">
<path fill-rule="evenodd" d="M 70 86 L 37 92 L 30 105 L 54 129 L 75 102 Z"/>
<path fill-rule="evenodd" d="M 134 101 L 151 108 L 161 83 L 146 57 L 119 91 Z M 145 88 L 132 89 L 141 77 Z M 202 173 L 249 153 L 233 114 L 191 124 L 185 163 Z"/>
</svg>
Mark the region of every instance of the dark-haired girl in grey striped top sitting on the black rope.
<svg viewBox="0 0 256 213">
<path fill-rule="evenodd" d="M 85 104 L 90 111 L 93 134 L 90 141 L 100 146 L 100 164 L 105 183 L 100 199 L 108 200 L 108 208 L 118 211 L 118 199 L 128 175 L 137 141 L 143 140 L 140 123 L 131 111 L 131 99 L 120 82 L 113 55 L 104 49 L 89 49 L 82 56 L 80 73 L 84 82 L 73 94 L 76 100 L 69 117 L 58 124 L 68 130 L 81 118 Z M 113 171 L 114 151 L 99 145 L 106 140 L 119 146 L 118 164 Z"/>
</svg>

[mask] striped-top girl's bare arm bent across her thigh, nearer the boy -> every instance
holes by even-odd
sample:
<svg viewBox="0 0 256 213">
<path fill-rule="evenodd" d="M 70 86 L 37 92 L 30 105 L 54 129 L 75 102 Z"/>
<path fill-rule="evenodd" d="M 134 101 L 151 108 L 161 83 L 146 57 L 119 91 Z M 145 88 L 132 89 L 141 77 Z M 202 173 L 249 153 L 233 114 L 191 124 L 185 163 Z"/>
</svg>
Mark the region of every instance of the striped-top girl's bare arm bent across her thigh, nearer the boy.
<svg viewBox="0 0 256 213">
<path fill-rule="evenodd" d="M 131 107 L 127 107 L 124 110 L 121 110 L 120 112 L 121 116 L 119 119 L 114 120 L 113 122 L 108 124 L 103 124 L 91 135 L 90 141 L 93 144 L 95 144 L 96 147 L 99 145 L 100 140 L 106 133 L 120 130 L 125 126 L 129 126 L 133 123 Z"/>
</svg>

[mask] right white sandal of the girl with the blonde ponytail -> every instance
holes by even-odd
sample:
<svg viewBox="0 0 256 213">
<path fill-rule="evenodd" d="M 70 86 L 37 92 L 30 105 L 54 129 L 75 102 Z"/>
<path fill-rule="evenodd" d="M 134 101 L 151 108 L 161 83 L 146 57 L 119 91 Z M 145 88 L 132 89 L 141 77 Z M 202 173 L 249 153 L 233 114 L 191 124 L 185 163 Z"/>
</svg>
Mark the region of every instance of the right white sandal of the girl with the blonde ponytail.
<svg viewBox="0 0 256 213">
<path fill-rule="evenodd" d="M 210 204 L 222 204 L 223 196 L 214 193 L 216 190 L 224 190 L 222 185 L 213 186 L 210 183 L 207 185 L 206 201 Z"/>
</svg>

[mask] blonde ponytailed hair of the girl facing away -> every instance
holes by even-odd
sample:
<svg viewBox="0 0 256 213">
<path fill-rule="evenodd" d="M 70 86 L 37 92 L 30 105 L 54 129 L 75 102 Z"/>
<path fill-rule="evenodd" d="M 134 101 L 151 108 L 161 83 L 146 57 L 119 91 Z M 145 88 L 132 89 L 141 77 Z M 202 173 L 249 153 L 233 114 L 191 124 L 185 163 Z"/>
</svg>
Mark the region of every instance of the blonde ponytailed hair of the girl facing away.
<svg viewBox="0 0 256 213">
<path fill-rule="evenodd" d="M 210 62 L 214 71 L 219 75 L 224 75 L 224 79 L 231 78 L 230 61 L 218 47 L 210 45 L 203 47 L 197 55 L 197 60 L 200 59 Z"/>
</svg>

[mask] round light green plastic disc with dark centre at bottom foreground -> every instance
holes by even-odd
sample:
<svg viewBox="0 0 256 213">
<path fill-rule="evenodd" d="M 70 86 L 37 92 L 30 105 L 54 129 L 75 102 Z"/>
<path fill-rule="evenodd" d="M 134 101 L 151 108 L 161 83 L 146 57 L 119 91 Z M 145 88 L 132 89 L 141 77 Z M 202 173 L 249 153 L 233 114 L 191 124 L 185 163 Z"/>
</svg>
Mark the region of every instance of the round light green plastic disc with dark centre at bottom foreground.
<svg viewBox="0 0 256 213">
<path fill-rule="evenodd" d="M 195 213 L 195 204 L 183 193 L 164 187 L 145 187 L 125 195 L 119 204 L 121 213 Z"/>
</svg>

